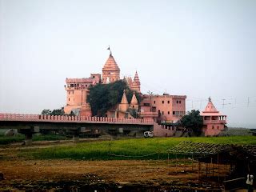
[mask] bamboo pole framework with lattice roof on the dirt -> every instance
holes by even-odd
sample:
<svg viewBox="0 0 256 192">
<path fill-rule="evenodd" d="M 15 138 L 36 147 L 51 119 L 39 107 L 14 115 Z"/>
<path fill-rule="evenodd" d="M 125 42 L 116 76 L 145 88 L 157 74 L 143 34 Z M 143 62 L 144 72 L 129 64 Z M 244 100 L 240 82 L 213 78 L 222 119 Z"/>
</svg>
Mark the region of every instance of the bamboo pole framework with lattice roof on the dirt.
<svg viewBox="0 0 256 192">
<path fill-rule="evenodd" d="M 234 172 L 237 157 L 249 158 L 251 162 L 256 159 L 255 145 L 230 145 L 230 144 L 212 144 L 202 142 L 180 142 L 178 145 L 167 150 L 168 162 L 170 154 L 175 157 L 176 172 L 178 164 L 185 165 L 186 158 L 191 162 L 192 170 L 198 169 L 198 179 L 203 175 L 206 178 L 223 177 Z M 178 161 L 179 158 L 184 158 Z M 182 164 L 181 162 L 184 162 Z M 194 166 L 194 162 L 198 162 L 198 166 Z M 184 166 L 183 172 L 186 171 Z"/>
</svg>

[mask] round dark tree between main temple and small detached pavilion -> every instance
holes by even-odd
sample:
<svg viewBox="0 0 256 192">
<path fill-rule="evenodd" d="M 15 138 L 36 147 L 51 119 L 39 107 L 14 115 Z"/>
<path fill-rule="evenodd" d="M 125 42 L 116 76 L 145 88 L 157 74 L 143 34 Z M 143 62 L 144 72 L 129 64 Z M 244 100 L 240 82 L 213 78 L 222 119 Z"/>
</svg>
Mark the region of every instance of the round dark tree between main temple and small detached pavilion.
<svg viewBox="0 0 256 192">
<path fill-rule="evenodd" d="M 193 131 L 196 136 L 199 136 L 200 134 L 202 134 L 203 125 L 203 120 L 202 116 L 200 115 L 200 111 L 189 111 L 188 114 L 184 115 L 180 119 L 179 125 L 185 127 L 185 131 L 188 131 L 189 133 Z"/>
</svg>

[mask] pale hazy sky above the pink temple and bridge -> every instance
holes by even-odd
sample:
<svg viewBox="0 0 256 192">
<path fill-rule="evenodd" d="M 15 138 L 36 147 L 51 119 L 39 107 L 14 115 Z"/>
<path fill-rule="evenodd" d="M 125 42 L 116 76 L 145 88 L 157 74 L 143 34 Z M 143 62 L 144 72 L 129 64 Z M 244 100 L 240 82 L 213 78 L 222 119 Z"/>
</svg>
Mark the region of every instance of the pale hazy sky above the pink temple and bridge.
<svg viewBox="0 0 256 192">
<path fill-rule="evenodd" d="M 65 79 L 102 73 L 108 45 L 143 93 L 186 94 L 186 110 L 210 96 L 228 126 L 256 128 L 250 0 L 0 0 L 0 113 L 65 106 Z"/>
</svg>

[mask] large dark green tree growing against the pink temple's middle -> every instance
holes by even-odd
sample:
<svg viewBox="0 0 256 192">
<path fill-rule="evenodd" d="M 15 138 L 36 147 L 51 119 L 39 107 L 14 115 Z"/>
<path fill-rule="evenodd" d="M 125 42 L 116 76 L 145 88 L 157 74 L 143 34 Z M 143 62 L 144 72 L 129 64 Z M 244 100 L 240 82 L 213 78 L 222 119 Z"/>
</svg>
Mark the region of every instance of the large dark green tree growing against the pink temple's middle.
<svg viewBox="0 0 256 192">
<path fill-rule="evenodd" d="M 87 101 L 90 103 L 90 107 L 93 116 L 105 116 L 106 111 L 116 106 L 122 100 L 123 90 L 126 90 L 126 96 L 128 102 L 130 102 L 133 91 L 129 89 L 126 82 L 119 80 L 109 84 L 97 84 L 89 87 L 90 94 L 87 97 Z M 140 96 L 136 93 L 138 102 L 141 101 Z"/>
</svg>

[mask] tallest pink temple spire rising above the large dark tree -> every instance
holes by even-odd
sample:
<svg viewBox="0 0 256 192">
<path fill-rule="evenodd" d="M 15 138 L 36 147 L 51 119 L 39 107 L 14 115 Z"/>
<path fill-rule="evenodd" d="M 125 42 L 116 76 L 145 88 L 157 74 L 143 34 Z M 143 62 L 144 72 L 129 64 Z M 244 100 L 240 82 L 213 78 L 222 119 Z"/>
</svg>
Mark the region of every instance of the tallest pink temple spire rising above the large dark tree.
<svg viewBox="0 0 256 192">
<path fill-rule="evenodd" d="M 110 51 L 110 56 L 106 60 L 105 65 L 102 68 L 102 82 L 104 84 L 115 82 L 120 79 L 120 69 L 117 62 L 115 62 L 114 57 Z"/>
</svg>

